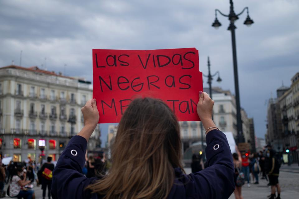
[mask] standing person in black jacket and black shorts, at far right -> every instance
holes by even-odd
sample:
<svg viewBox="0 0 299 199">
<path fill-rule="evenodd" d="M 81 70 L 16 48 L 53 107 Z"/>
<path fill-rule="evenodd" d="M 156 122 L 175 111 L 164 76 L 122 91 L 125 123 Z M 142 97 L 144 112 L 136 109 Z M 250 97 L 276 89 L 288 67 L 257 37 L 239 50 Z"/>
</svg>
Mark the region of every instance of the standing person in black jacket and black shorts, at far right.
<svg viewBox="0 0 299 199">
<path fill-rule="evenodd" d="M 278 176 L 279 176 L 279 168 L 280 164 L 275 157 L 275 150 L 268 150 L 267 157 L 268 157 L 268 164 L 266 172 L 268 174 L 269 183 L 271 185 L 271 196 L 269 199 L 275 198 L 275 190 L 277 189 L 277 197 L 275 199 L 280 199 L 280 186 L 278 183 Z"/>
</svg>

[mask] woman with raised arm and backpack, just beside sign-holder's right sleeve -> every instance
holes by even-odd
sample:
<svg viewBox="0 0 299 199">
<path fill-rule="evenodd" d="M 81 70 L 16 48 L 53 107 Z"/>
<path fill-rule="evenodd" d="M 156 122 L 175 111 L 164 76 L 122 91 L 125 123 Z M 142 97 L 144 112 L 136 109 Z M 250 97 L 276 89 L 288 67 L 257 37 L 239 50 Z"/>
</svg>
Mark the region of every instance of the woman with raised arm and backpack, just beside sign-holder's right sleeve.
<svg viewBox="0 0 299 199">
<path fill-rule="evenodd" d="M 242 184 L 239 185 L 237 184 L 237 178 L 241 173 L 241 169 L 242 169 L 242 157 L 238 147 L 236 146 L 235 148 L 237 153 L 233 153 L 233 161 L 235 167 L 235 185 L 236 185 L 234 194 L 235 194 L 235 199 L 243 199 Z"/>
</svg>

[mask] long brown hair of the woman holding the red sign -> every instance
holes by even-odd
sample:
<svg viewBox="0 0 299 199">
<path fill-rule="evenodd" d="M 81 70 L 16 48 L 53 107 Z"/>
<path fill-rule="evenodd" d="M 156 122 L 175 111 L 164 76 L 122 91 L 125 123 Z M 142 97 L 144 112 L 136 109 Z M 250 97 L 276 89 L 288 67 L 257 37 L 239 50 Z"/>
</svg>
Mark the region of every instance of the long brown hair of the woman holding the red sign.
<svg viewBox="0 0 299 199">
<path fill-rule="evenodd" d="M 104 198 L 166 198 L 174 168 L 183 170 L 181 150 L 172 110 L 159 99 L 135 99 L 119 123 L 108 175 L 87 189 Z"/>
</svg>

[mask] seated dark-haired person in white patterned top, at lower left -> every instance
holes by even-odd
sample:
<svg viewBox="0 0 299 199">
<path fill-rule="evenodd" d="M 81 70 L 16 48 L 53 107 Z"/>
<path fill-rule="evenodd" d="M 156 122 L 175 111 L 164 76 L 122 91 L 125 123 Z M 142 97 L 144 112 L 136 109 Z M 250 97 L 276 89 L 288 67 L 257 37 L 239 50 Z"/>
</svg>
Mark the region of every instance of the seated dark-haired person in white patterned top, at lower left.
<svg viewBox="0 0 299 199">
<path fill-rule="evenodd" d="M 23 179 L 21 179 L 21 177 Z M 35 199 L 34 190 L 24 188 L 25 185 L 30 184 L 30 180 L 26 180 L 26 173 L 24 167 L 17 166 L 12 170 L 11 178 L 9 180 L 9 196 L 17 198 Z"/>
</svg>

